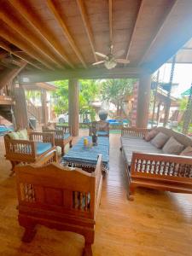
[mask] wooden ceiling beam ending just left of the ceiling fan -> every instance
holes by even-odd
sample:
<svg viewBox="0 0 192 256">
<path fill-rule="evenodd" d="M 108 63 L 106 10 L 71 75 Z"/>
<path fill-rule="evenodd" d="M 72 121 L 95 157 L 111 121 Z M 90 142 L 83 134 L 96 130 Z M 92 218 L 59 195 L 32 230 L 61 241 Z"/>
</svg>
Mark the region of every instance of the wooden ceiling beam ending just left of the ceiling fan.
<svg viewBox="0 0 192 256">
<path fill-rule="evenodd" d="M 79 12 L 80 12 L 81 18 L 82 18 L 83 23 L 84 23 L 85 31 L 86 31 L 87 36 L 89 38 L 92 53 L 95 57 L 95 61 L 98 61 L 98 58 L 96 56 L 95 40 L 94 40 L 94 37 L 93 37 L 92 29 L 90 27 L 90 21 L 89 21 L 88 16 L 87 16 L 87 12 L 86 12 L 86 9 L 85 9 L 85 6 L 84 6 L 84 2 L 83 2 L 83 0 L 76 0 L 76 1 L 78 3 L 78 6 L 79 6 Z"/>
</svg>

